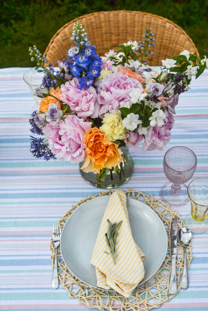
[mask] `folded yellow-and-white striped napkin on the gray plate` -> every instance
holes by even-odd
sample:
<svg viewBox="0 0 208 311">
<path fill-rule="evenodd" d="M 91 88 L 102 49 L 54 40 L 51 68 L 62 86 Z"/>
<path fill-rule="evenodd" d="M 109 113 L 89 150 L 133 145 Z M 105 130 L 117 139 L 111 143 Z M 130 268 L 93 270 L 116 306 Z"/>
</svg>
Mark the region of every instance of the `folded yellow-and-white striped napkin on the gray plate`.
<svg viewBox="0 0 208 311">
<path fill-rule="evenodd" d="M 117 229 L 115 264 L 112 256 L 107 254 L 110 253 L 105 240 L 108 219 L 111 223 L 119 223 L 122 220 L 122 224 Z M 97 286 L 107 290 L 112 288 L 128 298 L 144 277 L 142 262 L 144 258 L 143 252 L 133 240 L 126 195 L 119 189 L 109 198 L 90 261 L 96 267 Z"/>
</svg>

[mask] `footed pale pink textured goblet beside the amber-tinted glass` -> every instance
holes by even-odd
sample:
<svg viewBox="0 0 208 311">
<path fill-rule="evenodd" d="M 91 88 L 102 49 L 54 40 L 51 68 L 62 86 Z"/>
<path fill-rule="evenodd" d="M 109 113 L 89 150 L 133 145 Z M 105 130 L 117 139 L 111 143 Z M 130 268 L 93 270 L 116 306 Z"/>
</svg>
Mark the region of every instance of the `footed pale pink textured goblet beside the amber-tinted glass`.
<svg viewBox="0 0 208 311">
<path fill-rule="evenodd" d="M 196 170 L 196 155 L 186 147 L 170 148 L 163 159 L 163 169 L 169 182 L 160 191 L 162 200 L 170 206 L 182 206 L 189 201 L 186 183 Z"/>
</svg>

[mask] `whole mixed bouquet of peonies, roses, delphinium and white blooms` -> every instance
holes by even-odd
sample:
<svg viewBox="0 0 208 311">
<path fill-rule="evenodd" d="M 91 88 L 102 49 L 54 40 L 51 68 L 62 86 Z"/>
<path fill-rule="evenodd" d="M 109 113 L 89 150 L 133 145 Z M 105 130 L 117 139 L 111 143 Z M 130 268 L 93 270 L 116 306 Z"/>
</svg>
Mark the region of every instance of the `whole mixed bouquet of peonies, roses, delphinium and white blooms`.
<svg viewBox="0 0 208 311">
<path fill-rule="evenodd" d="M 31 132 L 45 138 L 31 136 L 33 156 L 83 162 L 84 172 L 104 179 L 106 169 L 122 168 L 124 146 L 137 147 L 144 139 L 142 151 L 162 150 L 170 141 L 178 97 L 208 60 L 184 50 L 162 60 L 161 72 L 152 77 L 145 58 L 155 39 L 152 29 L 144 31 L 141 41 L 130 40 L 101 58 L 75 22 L 75 46 L 57 71 L 53 63 L 44 67 L 46 57 L 36 46 L 29 49 L 37 71 L 45 73 L 36 89 L 40 107 L 30 118 Z"/>
</svg>

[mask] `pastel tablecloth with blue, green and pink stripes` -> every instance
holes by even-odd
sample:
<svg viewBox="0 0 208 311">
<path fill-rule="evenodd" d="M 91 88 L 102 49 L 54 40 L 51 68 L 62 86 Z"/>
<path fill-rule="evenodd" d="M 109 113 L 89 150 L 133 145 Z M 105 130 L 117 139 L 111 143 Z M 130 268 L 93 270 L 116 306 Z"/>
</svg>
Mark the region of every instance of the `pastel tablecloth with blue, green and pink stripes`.
<svg viewBox="0 0 208 311">
<path fill-rule="evenodd" d="M 26 68 L 0 69 L 0 310 L 55 311 L 88 309 L 65 289 L 51 287 L 49 243 L 52 226 L 73 203 L 100 189 L 86 183 L 77 164 L 44 162 L 30 153 L 28 119 L 36 105 L 23 81 Z M 208 176 L 208 71 L 180 95 L 172 139 L 164 151 L 131 148 L 134 173 L 121 186 L 159 197 L 167 182 L 162 160 L 172 146 L 186 146 L 197 156 L 192 179 Z M 176 210 L 184 219 L 190 203 Z M 164 311 L 208 310 L 208 232 L 193 234 L 189 287 L 180 290 Z"/>
</svg>

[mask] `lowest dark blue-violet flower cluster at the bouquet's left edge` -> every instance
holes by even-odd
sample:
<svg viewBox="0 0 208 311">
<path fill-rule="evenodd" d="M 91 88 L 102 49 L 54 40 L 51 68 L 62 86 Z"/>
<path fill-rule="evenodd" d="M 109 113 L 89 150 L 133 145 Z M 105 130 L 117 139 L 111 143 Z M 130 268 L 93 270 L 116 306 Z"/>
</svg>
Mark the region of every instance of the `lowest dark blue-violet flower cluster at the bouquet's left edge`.
<svg viewBox="0 0 208 311">
<path fill-rule="evenodd" d="M 30 151 L 32 152 L 33 156 L 36 158 L 42 158 L 46 161 L 53 159 L 56 160 L 56 157 L 48 148 L 48 143 L 44 141 L 44 138 L 37 138 L 30 136 L 31 143 L 30 143 Z"/>
</svg>

